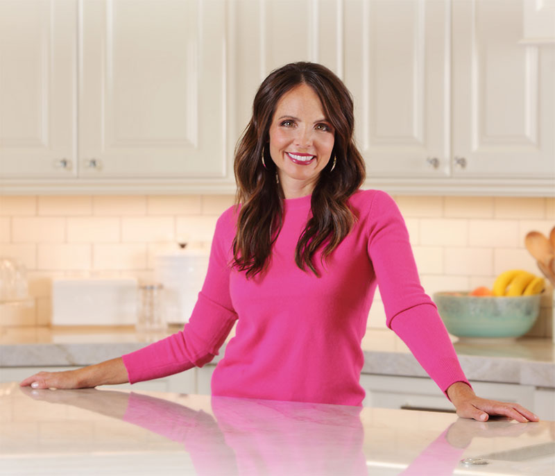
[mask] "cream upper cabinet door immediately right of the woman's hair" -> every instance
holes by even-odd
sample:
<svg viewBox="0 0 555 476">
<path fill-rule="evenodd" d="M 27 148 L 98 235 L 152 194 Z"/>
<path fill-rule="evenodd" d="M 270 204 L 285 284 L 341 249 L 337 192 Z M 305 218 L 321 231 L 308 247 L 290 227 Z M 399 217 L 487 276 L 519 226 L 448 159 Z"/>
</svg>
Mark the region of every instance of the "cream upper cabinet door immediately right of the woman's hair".
<svg viewBox="0 0 555 476">
<path fill-rule="evenodd" d="M 448 14 L 442 1 L 345 2 L 345 83 L 370 181 L 449 175 Z"/>
</svg>

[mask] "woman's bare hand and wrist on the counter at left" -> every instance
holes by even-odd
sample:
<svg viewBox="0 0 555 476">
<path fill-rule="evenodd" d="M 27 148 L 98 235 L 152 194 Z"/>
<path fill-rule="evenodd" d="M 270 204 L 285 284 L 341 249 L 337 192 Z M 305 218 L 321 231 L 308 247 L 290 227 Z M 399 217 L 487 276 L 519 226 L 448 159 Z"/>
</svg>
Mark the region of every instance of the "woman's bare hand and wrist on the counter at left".
<svg viewBox="0 0 555 476">
<path fill-rule="evenodd" d="M 123 359 L 117 357 L 74 371 L 35 373 L 19 385 L 31 385 L 33 389 L 85 389 L 97 385 L 127 382 L 128 375 Z"/>
</svg>

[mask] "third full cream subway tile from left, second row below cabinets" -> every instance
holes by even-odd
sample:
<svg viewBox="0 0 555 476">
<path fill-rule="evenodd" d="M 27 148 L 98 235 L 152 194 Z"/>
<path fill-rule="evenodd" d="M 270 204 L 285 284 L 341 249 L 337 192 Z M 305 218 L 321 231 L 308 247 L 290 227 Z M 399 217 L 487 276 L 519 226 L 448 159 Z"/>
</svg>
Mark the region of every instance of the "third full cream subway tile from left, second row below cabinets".
<svg viewBox="0 0 555 476">
<path fill-rule="evenodd" d="M 121 219 L 121 241 L 172 241 L 176 239 L 173 216 L 131 216 Z"/>
</svg>

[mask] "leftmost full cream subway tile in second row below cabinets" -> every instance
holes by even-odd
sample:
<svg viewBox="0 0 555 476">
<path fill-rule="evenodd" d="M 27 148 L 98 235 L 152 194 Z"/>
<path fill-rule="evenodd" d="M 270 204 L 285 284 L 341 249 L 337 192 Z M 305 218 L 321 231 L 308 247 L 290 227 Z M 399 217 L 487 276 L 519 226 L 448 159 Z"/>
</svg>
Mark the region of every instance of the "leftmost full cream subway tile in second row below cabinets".
<svg viewBox="0 0 555 476">
<path fill-rule="evenodd" d="M 63 243 L 66 219 L 61 216 L 15 216 L 13 243 Z"/>
</svg>

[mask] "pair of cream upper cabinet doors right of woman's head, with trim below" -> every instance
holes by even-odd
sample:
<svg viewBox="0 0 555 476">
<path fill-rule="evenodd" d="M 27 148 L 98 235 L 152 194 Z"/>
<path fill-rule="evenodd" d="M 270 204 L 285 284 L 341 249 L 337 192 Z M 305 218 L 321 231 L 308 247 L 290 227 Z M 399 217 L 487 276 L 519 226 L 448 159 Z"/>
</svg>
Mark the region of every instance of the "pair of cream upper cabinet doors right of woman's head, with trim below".
<svg viewBox="0 0 555 476">
<path fill-rule="evenodd" d="M 554 50 L 519 44 L 522 0 L 348 0 L 345 24 L 369 185 L 555 193 Z"/>
</svg>

